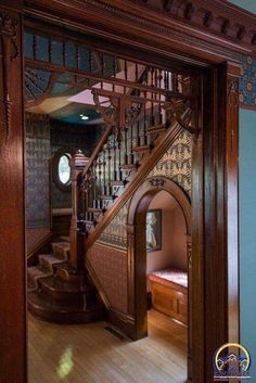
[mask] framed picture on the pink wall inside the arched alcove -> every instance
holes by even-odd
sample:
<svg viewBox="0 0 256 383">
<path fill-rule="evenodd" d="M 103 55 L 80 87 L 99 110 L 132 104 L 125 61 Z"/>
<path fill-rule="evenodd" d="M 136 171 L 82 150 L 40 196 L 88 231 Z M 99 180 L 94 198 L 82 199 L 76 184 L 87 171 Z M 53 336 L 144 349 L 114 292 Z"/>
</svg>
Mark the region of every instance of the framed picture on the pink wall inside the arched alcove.
<svg viewBox="0 0 256 383">
<path fill-rule="evenodd" d="M 162 210 L 154 209 L 146 213 L 145 221 L 146 252 L 156 252 L 162 248 Z"/>
</svg>

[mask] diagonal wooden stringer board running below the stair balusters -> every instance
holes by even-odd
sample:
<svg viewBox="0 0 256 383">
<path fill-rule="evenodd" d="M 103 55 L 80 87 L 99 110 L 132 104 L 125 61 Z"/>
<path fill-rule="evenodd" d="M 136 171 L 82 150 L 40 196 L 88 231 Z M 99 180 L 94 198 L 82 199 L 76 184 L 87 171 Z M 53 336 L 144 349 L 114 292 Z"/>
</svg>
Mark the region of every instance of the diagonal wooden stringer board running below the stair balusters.
<svg viewBox="0 0 256 383">
<path fill-rule="evenodd" d="M 142 159 L 138 171 L 130 179 L 123 194 L 116 200 L 114 205 L 105 213 L 103 219 L 98 224 L 94 231 L 86 239 L 86 251 L 97 241 L 105 227 L 116 216 L 118 210 L 125 205 L 129 197 L 136 192 L 141 182 L 146 178 L 149 173 L 154 168 L 157 162 L 169 149 L 170 144 L 183 131 L 183 128 L 177 122 L 174 122 L 168 132 L 155 142 L 155 148 L 152 150 L 150 157 Z"/>
</svg>

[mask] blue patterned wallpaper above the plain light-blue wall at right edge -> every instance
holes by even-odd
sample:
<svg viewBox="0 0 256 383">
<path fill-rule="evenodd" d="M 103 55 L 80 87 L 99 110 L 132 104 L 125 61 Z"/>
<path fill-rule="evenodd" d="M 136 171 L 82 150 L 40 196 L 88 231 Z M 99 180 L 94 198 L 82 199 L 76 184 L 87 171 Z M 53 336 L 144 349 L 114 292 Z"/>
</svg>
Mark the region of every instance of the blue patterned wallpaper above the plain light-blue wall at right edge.
<svg viewBox="0 0 256 383">
<path fill-rule="evenodd" d="M 256 110 L 256 58 L 244 56 L 240 78 L 240 103 L 242 107 Z"/>
</svg>

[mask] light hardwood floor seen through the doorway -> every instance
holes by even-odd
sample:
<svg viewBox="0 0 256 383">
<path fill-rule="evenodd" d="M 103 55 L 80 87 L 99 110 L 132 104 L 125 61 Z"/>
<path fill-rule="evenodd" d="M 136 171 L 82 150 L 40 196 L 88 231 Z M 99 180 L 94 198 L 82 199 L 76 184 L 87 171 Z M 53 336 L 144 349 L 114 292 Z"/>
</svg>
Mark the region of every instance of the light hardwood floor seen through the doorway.
<svg viewBox="0 0 256 383">
<path fill-rule="evenodd" d="M 119 340 L 105 322 L 60 325 L 29 316 L 29 383 L 183 383 L 187 329 L 149 311 L 148 339 Z"/>
</svg>

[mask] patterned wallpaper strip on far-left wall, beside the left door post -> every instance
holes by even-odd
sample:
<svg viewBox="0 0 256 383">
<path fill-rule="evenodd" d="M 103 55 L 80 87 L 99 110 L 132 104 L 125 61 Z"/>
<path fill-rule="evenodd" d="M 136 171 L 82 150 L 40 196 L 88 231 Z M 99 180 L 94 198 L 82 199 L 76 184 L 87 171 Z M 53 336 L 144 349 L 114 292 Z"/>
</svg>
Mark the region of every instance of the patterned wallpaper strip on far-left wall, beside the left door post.
<svg viewBox="0 0 256 383">
<path fill-rule="evenodd" d="M 26 114 L 26 225 L 50 227 L 49 158 L 50 122 L 44 115 Z"/>
</svg>

